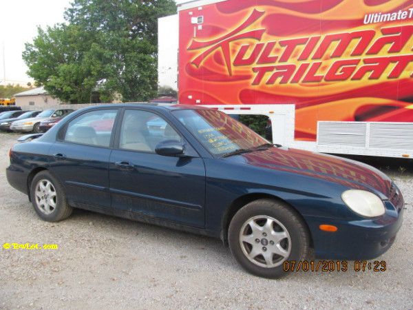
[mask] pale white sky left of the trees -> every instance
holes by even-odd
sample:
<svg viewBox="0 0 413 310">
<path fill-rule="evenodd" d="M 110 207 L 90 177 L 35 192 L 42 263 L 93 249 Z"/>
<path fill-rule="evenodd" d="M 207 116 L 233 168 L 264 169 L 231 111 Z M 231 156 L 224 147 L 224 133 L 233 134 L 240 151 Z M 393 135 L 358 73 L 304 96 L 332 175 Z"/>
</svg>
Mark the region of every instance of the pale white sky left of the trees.
<svg viewBox="0 0 413 310">
<path fill-rule="evenodd" d="M 37 25 L 44 29 L 47 25 L 62 23 L 63 12 L 65 8 L 70 7 L 70 2 L 70 0 L 0 0 L 0 85 L 5 84 L 4 68 L 6 68 L 6 84 L 25 85 L 33 82 L 33 79 L 25 73 L 28 68 L 21 59 L 24 43 L 31 43 L 36 37 Z"/>
</svg>

